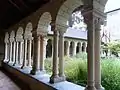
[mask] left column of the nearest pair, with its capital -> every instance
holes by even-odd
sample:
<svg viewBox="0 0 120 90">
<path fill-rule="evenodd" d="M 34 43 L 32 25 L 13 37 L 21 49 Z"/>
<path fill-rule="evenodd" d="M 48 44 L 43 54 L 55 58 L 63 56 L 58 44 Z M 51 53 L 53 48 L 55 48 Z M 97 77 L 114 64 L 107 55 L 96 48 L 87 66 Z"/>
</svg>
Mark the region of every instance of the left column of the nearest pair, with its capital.
<svg viewBox="0 0 120 90">
<path fill-rule="evenodd" d="M 82 12 L 84 16 L 84 21 L 87 24 L 87 38 L 88 38 L 88 56 L 87 56 L 87 69 L 88 69 L 88 77 L 87 77 L 87 86 L 85 90 L 96 90 L 95 88 L 95 78 L 94 78 L 94 17 L 93 11 Z"/>
</svg>

